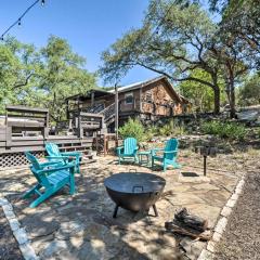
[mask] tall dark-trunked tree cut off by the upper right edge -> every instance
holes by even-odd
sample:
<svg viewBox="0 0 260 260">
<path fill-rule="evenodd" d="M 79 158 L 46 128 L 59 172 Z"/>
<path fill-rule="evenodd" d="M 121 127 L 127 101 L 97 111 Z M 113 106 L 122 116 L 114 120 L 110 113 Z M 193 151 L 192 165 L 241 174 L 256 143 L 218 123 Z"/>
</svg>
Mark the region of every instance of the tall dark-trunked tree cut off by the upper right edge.
<svg viewBox="0 0 260 260">
<path fill-rule="evenodd" d="M 259 4 L 259 0 L 211 0 L 211 8 L 222 14 L 214 48 L 226 79 L 231 117 L 235 116 L 235 84 L 245 73 L 260 65 Z"/>
</svg>

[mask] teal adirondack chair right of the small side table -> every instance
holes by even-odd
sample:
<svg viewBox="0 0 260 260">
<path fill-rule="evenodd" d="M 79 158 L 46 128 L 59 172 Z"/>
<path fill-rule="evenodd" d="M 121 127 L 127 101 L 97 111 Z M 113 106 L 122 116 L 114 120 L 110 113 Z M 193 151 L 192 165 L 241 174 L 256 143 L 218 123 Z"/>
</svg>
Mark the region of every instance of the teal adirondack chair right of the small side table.
<svg viewBox="0 0 260 260">
<path fill-rule="evenodd" d="M 161 155 L 158 155 L 160 151 Z M 177 162 L 178 154 L 178 140 L 170 139 L 167 141 L 165 148 L 152 150 L 152 168 L 154 168 L 155 161 L 160 161 L 166 171 L 167 166 L 173 166 L 174 168 L 181 168 L 181 165 Z"/>
</svg>

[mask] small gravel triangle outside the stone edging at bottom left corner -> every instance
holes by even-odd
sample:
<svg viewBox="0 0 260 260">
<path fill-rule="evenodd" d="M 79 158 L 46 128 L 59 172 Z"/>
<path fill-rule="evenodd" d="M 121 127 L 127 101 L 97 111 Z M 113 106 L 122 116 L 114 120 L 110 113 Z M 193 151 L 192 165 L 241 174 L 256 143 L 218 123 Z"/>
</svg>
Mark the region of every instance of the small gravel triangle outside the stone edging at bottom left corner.
<svg viewBox="0 0 260 260">
<path fill-rule="evenodd" d="M 12 234 L 8 220 L 0 207 L 0 259 L 1 260 L 22 260 L 23 257 L 18 245 Z"/>
</svg>

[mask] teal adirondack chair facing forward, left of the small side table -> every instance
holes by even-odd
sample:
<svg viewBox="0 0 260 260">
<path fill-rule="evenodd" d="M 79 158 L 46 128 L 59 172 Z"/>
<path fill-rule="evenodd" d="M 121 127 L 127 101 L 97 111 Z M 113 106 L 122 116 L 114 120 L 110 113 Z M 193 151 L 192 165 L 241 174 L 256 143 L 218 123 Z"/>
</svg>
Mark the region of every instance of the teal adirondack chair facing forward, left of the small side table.
<svg viewBox="0 0 260 260">
<path fill-rule="evenodd" d="M 121 160 L 133 158 L 138 162 L 138 141 L 134 138 L 127 138 L 123 140 L 123 146 L 117 147 L 118 164 Z"/>
</svg>

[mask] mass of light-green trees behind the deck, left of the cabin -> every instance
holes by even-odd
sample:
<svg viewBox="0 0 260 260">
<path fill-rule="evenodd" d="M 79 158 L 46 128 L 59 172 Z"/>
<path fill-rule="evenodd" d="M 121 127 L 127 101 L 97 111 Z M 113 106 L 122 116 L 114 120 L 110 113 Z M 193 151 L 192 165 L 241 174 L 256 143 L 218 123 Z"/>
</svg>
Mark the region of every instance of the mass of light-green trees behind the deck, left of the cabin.
<svg viewBox="0 0 260 260">
<path fill-rule="evenodd" d="M 63 120 L 65 99 L 96 87 L 84 64 L 58 37 L 41 50 L 8 38 L 0 44 L 0 112 L 5 104 L 47 107 L 52 121 Z"/>
</svg>

